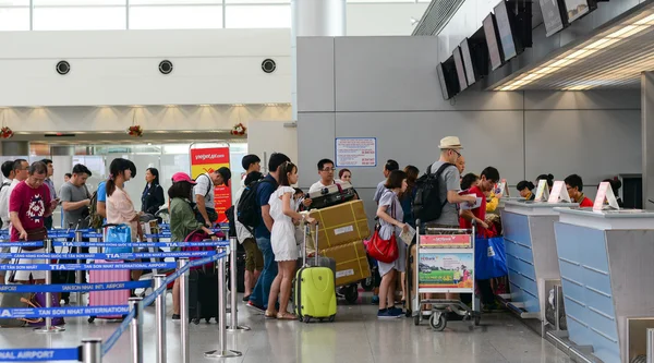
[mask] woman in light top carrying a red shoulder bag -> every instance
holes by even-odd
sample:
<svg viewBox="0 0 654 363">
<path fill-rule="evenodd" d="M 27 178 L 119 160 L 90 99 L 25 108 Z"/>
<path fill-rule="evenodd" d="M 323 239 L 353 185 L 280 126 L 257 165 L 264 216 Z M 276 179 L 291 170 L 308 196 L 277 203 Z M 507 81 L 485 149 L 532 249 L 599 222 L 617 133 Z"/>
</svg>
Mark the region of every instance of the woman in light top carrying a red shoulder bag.
<svg viewBox="0 0 654 363">
<path fill-rule="evenodd" d="M 379 238 L 389 240 L 395 233 L 400 253 L 395 262 L 378 262 L 379 275 L 382 275 L 378 318 L 400 317 L 402 315 L 402 310 L 395 307 L 395 287 L 398 273 L 403 273 L 407 264 L 407 246 L 399 237 L 402 231 L 409 230 L 409 225 L 403 222 L 404 211 L 398 198 L 401 193 L 407 192 L 407 173 L 401 170 L 391 171 L 385 187 L 386 190 L 382 194 L 377 207 L 377 217 L 379 217 L 380 225 Z"/>
</svg>

